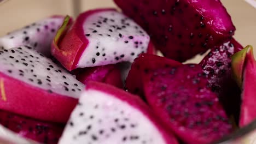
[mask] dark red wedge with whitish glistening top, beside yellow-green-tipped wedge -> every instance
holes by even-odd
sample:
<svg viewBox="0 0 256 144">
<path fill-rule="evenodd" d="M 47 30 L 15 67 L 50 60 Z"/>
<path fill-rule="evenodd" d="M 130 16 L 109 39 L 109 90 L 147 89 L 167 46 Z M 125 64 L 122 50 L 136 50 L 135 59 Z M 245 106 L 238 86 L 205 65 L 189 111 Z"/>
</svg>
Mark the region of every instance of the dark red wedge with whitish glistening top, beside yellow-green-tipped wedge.
<svg viewBox="0 0 256 144">
<path fill-rule="evenodd" d="M 241 91 L 231 76 L 231 56 L 242 49 L 235 39 L 231 39 L 212 47 L 211 52 L 200 62 L 212 91 L 217 93 L 225 111 L 229 116 L 234 116 L 237 123 Z"/>
</svg>

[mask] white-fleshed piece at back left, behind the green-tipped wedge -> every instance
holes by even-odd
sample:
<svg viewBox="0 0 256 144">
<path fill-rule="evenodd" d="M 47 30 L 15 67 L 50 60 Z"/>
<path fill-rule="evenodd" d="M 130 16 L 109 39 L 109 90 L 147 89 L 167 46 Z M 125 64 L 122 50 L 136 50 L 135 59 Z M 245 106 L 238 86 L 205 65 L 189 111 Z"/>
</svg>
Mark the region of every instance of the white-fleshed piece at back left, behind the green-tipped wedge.
<svg viewBox="0 0 256 144">
<path fill-rule="evenodd" d="M 63 16 L 52 16 L 17 29 L 0 38 L 0 48 L 11 49 L 28 45 L 50 56 L 51 42 L 64 20 Z"/>
</svg>

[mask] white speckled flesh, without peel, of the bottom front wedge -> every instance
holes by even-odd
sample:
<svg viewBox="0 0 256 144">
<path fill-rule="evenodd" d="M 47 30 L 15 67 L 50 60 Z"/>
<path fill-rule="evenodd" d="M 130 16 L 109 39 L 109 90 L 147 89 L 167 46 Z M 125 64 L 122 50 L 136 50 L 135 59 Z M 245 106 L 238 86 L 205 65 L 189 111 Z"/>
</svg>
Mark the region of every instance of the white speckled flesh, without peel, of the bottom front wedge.
<svg viewBox="0 0 256 144">
<path fill-rule="evenodd" d="M 94 89 L 83 92 L 59 143 L 79 142 L 165 143 L 144 113 Z"/>
</svg>

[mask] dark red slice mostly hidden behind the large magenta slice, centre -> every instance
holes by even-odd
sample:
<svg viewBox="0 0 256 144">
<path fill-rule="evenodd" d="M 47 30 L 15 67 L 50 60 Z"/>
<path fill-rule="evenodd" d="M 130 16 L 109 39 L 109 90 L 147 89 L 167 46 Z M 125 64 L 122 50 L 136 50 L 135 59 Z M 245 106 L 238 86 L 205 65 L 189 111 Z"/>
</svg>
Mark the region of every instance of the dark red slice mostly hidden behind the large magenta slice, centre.
<svg viewBox="0 0 256 144">
<path fill-rule="evenodd" d="M 150 55 L 142 53 L 132 63 L 131 70 L 126 79 L 126 85 L 128 92 L 138 94 L 143 97 L 143 75 L 144 71 L 153 70 L 157 68 L 165 67 L 178 67 L 182 63 L 173 61 L 166 57 L 160 57 L 156 55 Z"/>
</svg>

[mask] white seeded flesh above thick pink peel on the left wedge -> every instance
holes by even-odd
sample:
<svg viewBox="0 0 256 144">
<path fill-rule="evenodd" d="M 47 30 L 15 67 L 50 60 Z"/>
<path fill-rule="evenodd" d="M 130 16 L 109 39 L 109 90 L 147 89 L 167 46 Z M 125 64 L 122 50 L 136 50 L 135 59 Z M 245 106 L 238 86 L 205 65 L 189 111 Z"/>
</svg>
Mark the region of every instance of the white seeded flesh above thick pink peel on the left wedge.
<svg viewBox="0 0 256 144">
<path fill-rule="evenodd" d="M 79 98 L 83 84 L 53 61 L 31 49 L 22 46 L 0 51 L 0 72 L 49 93 Z"/>
</svg>

